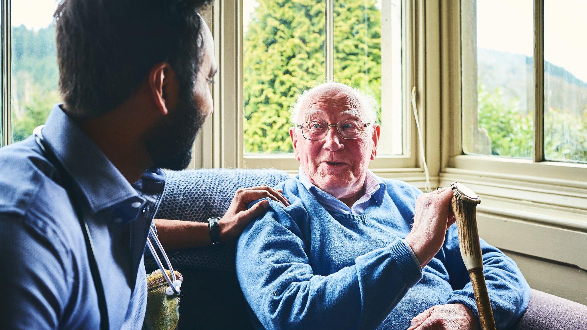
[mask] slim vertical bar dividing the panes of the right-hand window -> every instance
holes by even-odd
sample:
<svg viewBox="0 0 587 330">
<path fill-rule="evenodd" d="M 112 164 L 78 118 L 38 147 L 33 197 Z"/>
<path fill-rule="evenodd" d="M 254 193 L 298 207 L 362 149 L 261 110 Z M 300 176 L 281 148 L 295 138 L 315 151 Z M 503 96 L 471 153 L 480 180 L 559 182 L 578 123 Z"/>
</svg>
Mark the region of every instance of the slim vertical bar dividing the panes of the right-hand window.
<svg viewBox="0 0 587 330">
<path fill-rule="evenodd" d="M 534 162 L 544 161 L 544 0 L 534 0 Z"/>
</svg>

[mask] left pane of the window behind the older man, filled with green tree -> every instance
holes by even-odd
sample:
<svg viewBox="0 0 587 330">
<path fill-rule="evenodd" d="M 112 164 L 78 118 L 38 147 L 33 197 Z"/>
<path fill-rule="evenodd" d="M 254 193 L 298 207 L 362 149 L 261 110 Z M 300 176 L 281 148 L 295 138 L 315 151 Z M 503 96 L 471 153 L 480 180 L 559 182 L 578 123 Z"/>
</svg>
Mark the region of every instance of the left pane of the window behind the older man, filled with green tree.
<svg viewBox="0 0 587 330">
<path fill-rule="evenodd" d="M 245 153 L 291 153 L 289 110 L 325 77 L 324 0 L 243 0 Z"/>
</svg>

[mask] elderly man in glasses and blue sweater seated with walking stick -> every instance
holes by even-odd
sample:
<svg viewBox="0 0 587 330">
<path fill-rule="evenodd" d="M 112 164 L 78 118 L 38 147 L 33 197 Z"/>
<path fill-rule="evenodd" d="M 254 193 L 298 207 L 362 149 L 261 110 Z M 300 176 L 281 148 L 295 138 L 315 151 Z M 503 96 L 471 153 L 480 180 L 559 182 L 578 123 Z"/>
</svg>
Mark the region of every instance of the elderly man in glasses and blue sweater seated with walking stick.
<svg viewBox="0 0 587 330">
<path fill-rule="evenodd" d="M 238 241 L 237 274 L 258 329 L 477 329 L 452 191 L 421 191 L 367 170 L 377 156 L 374 102 L 326 83 L 303 93 L 289 134 L 299 175 L 289 206 Z M 286 204 L 287 205 L 287 204 Z M 495 322 L 511 326 L 529 287 L 514 261 L 481 241 Z"/>
</svg>

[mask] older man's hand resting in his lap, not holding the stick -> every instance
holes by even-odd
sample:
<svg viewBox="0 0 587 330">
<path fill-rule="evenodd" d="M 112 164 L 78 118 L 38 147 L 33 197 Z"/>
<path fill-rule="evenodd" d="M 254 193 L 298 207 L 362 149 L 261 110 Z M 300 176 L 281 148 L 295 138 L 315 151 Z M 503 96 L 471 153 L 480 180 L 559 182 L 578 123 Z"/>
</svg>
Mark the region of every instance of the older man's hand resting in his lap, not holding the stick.
<svg viewBox="0 0 587 330">
<path fill-rule="evenodd" d="M 407 330 L 478 330 L 477 318 L 463 304 L 437 305 L 411 319 Z"/>
</svg>

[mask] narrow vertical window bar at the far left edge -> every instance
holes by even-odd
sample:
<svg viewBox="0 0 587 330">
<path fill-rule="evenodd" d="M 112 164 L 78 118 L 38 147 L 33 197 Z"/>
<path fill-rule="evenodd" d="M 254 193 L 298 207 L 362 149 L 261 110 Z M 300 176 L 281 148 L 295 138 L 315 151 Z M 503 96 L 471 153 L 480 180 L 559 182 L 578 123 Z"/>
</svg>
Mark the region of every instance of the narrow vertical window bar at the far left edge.
<svg viewBox="0 0 587 330">
<path fill-rule="evenodd" d="M 12 140 L 11 124 L 11 73 L 12 73 L 12 29 L 10 15 L 11 0 L 2 0 L 2 145 Z"/>
</svg>

